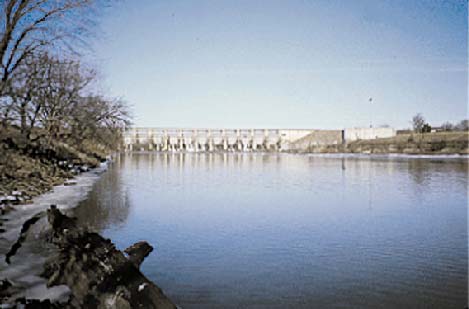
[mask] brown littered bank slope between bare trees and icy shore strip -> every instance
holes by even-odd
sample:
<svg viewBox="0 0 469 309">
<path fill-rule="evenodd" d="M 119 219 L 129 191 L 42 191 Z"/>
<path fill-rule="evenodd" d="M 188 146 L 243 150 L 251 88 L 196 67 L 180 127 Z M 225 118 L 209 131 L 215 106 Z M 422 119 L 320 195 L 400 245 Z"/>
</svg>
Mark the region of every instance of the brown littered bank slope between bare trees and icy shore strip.
<svg viewBox="0 0 469 309">
<path fill-rule="evenodd" d="M 99 166 L 107 153 L 98 147 L 78 149 L 48 140 L 26 137 L 15 128 L 0 137 L 0 205 L 31 203 L 32 198 L 69 182 L 74 176 Z"/>
</svg>

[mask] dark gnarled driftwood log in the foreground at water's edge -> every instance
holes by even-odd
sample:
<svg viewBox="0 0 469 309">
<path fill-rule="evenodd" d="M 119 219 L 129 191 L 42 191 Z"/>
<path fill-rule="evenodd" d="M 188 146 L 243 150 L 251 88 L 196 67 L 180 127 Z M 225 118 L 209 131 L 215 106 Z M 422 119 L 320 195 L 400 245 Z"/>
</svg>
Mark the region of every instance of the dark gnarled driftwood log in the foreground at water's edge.
<svg viewBox="0 0 469 309">
<path fill-rule="evenodd" d="M 126 249 L 126 258 L 109 239 L 80 228 L 56 207 L 47 210 L 47 218 L 59 255 L 46 263 L 43 276 L 48 286 L 70 288 L 68 307 L 176 308 L 138 269 L 153 250 L 148 243 Z"/>
</svg>

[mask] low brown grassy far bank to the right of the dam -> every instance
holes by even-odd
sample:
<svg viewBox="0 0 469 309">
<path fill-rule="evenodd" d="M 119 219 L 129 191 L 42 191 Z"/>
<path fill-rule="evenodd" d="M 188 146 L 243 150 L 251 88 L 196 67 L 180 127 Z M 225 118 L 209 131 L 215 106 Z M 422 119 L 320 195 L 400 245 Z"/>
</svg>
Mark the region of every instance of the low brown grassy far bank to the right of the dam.
<svg viewBox="0 0 469 309">
<path fill-rule="evenodd" d="M 340 145 L 314 145 L 306 136 L 293 144 L 297 153 L 376 153 L 409 155 L 469 154 L 469 132 L 399 134 Z"/>
</svg>

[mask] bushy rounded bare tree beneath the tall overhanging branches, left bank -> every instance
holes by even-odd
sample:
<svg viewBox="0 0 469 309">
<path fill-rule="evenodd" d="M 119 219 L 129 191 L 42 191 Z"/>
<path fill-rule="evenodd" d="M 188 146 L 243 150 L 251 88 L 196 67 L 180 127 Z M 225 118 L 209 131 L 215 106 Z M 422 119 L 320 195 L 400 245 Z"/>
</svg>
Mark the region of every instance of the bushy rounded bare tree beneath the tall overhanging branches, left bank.
<svg viewBox="0 0 469 309">
<path fill-rule="evenodd" d="M 26 135 L 38 124 L 54 137 L 93 78 L 93 71 L 82 69 L 77 61 L 59 60 L 47 53 L 29 55 L 6 93 L 11 98 L 10 121 Z"/>
</svg>

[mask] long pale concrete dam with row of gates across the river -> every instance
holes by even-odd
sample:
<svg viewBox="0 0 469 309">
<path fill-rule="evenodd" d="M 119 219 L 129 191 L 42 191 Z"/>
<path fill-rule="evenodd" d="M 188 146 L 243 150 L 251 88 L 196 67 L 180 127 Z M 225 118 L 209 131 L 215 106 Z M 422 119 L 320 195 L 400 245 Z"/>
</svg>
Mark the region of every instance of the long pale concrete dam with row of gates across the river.
<svg viewBox="0 0 469 309">
<path fill-rule="evenodd" d="M 396 131 L 392 128 L 318 130 L 137 127 L 124 131 L 123 144 L 125 151 L 288 151 L 395 135 Z"/>
</svg>

